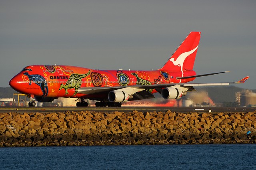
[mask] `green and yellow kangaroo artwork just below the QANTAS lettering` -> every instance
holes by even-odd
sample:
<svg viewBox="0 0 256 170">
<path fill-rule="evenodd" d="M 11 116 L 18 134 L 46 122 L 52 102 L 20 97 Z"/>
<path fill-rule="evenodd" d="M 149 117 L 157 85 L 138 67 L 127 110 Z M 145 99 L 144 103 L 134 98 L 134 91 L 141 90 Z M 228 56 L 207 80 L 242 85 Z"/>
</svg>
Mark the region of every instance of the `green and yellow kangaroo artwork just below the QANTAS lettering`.
<svg viewBox="0 0 256 170">
<path fill-rule="evenodd" d="M 68 89 L 75 89 L 75 93 L 74 95 L 76 95 L 77 93 L 77 90 L 81 87 L 81 84 L 82 84 L 82 78 L 90 75 L 90 70 L 88 71 L 88 73 L 86 74 L 72 74 L 70 75 L 67 83 L 65 85 L 63 84 L 60 84 L 60 89 L 65 89 L 65 95 L 68 94 Z M 74 96 L 73 95 L 73 96 Z"/>
</svg>

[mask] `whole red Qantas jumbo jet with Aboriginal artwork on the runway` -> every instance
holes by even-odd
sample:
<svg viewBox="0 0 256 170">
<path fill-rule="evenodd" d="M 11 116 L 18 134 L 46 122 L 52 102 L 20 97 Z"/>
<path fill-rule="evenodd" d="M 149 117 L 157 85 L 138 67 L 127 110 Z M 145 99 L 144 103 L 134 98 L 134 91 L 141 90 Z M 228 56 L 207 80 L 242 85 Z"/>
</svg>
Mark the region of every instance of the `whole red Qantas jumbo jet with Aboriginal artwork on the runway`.
<svg viewBox="0 0 256 170">
<path fill-rule="evenodd" d="M 122 102 L 154 98 L 180 99 L 194 86 L 229 85 L 230 83 L 188 84 L 196 77 L 193 71 L 201 32 L 190 32 L 164 66 L 152 71 L 94 70 L 67 65 L 30 65 L 10 80 L 10 86 L 30 97 L 29 106 L 52 102 L 58 97 L 80 98 L 77 106 L 87 107 L 84 99 L 96 100 L 96 106 L 120 107 Z M 244 83 L 249 77 L 233 83 Z"/>
</svg>

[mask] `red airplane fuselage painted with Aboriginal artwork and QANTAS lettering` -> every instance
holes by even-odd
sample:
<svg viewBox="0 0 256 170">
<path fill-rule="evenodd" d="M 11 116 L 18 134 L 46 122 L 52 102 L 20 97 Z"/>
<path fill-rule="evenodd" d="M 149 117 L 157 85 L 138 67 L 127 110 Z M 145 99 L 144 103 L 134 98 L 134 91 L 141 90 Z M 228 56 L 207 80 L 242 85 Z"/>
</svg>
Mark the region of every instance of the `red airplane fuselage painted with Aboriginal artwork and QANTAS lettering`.
<svg viewBox="0 0 256 170">
<path fill-rule="evenodd" d="M 193 76 L 193 70 L 183 71 L 183 76 Z M 132 85 L 153 85 L 186 83 L 194 80 L 176 79 L 182 71 L 134 71 L 134 70 L 93 70 L 66 65 L 30 65 L 25 67 L 11 81 L 20 93 L 44 97 L 98 98 L 107 93 L 84 95 L 77 93 L 81 87 L 117 87 Z M 151 93 L 157 91 L 151 90 Z"/>
</svg>

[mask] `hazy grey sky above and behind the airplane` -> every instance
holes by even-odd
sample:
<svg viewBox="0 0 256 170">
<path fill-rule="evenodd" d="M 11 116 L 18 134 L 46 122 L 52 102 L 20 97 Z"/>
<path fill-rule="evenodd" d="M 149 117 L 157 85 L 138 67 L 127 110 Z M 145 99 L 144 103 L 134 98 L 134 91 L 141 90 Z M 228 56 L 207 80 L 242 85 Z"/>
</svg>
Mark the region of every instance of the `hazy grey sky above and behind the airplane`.
<svg viewBox="0 0 256 170">
<path fill-rule="evenodd" d="M 256 89 L 255 0 L 0 0 L 0 87 L 27 65 L 159 69 L 201 33 L 194 83 Z"/>
</svg>

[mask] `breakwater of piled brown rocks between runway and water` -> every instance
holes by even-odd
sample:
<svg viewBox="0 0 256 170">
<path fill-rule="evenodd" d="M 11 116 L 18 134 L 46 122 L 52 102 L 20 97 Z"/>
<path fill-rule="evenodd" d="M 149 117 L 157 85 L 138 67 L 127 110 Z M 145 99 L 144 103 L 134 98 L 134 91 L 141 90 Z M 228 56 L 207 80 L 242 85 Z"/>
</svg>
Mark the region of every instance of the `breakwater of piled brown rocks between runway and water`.
<svg viewBox="0 0 256 170">
<path fill-rule="evenodd" d="M 0 146 L 256 143 L 255 128 L 256 112 L 0 113 Z"/>
</svg>

